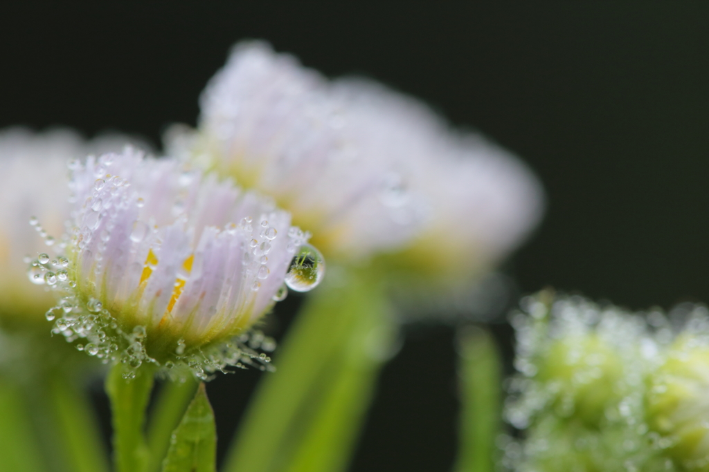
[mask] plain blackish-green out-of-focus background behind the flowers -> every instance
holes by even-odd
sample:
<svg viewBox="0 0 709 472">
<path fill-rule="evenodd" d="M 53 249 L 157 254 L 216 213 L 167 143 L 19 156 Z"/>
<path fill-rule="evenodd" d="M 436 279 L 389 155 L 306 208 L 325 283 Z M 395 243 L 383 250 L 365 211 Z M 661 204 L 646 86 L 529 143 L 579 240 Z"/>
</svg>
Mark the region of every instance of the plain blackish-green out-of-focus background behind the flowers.
<svg viewBox="0 0 709 472">
<path fill-rule="evenodd" d="M 552 285 L 631 309 L 709 301 L 709 6 L 21 8 L 0 7 L 0 127 L 118 129 L 157 146 L 170 122 L 194 125 L 230 45 L 264 38 L 329 76 L 418 96 L 529 163 L 549 206 L 506 266 L 521 292 Z M 35 185 L 56 178 L 40 171 Z M 298 303 L 279 306 L 278 335 Z M 496 335 L 509 354 L 509 328 Z M 407 329 L 352 472 L 450 468 L 452 340 L 451 328 Z M 220 454 L 259 376 L 209 384 Z"/>
</svg>

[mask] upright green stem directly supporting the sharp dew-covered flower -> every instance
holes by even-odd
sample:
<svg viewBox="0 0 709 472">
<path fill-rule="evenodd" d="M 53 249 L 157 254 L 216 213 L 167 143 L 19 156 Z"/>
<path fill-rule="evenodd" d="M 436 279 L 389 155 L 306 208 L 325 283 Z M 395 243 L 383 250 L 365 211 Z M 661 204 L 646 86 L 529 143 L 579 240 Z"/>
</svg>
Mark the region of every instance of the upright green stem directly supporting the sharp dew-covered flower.
<svg viewBox="0 0 709 472">
<path fill-rule="evenodd" d="M 116 364 L 106 377 L 113 415 L 113 461 L 116 472 L 145 472 L 150 450 L 143 426 L 155 369 L 143 365 L 130 380 L 123 378 L 127 372 L 124 364 Z"/>
</svg>

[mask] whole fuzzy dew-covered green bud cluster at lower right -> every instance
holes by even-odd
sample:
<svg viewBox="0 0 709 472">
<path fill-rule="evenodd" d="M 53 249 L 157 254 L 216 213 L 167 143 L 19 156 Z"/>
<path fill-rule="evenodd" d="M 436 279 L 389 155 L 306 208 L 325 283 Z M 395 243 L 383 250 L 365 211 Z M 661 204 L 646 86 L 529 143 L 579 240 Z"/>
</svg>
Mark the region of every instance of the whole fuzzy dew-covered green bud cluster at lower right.
<svg viewBox="0 0 709 472">
<path fill-rule="evenodd" d="M 523 302 L 507 418 L 518 471 L 709 471 L 709 311 Z"/>
</svg>

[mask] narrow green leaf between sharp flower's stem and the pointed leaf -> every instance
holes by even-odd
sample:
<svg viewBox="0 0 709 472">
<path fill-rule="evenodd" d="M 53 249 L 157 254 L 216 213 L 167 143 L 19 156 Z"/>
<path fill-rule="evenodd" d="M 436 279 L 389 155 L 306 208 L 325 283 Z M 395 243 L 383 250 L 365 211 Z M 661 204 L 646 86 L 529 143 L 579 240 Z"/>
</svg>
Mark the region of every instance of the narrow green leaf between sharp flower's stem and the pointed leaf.
<svg viewBox="0 0 709 472">
<path fill-rule="evenodd" d="M 197 382 L 189 377 L 184 382 L 165 381 L 155 401 L 155 409 L 147 425 L 151 472 L 159 472 L 170 446 L 172 432 L 179 425 L 187 405 L 194 397 Z"/>
</svg>

